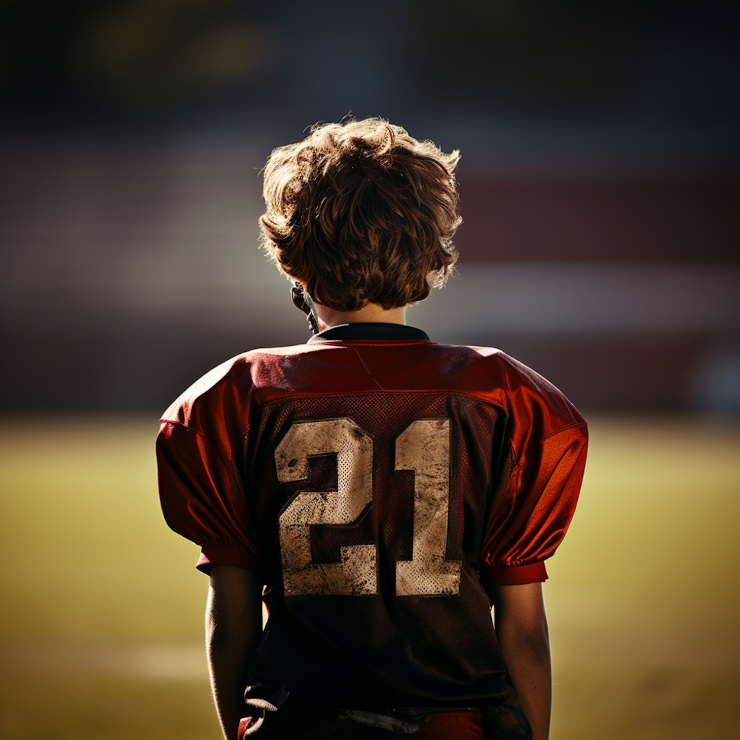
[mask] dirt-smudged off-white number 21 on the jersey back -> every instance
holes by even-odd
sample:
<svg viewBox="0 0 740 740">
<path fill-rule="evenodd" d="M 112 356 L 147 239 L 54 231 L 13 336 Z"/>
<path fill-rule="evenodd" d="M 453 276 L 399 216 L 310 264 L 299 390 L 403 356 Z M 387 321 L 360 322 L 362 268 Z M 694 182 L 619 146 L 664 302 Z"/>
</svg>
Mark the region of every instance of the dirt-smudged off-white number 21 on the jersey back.
<svg viewBox="0 0 740 740">
<path fill-rule="evenodd" d="M 309 457 L 337 454 L 336 491 L 300 491 L 280 514 L 286 596 L 377 593 L 375 545 L 340 548 L 340 562 L 311 558 L 311 525 L 352 524 L 372 501 L 372 440 L 351 419 L 296 422 L 275 450 L 277 480 L 309 477 Z M 414 471 L 412 559 L 396 564 L 398 596 L 460 592 L 460 561 L 445 560 L 449 517 L 449 420 L 412 422 L 396 440 L 396 470 Z"/>
</svg>

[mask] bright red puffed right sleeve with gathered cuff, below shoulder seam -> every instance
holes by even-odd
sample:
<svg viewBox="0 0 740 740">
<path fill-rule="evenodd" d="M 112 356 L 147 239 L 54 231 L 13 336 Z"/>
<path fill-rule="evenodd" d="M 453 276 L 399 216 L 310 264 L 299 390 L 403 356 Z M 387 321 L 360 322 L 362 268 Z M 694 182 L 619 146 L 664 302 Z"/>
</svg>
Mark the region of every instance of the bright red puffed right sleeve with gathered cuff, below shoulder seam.
<svg viewBox="0 0 740 740">
<path fill-rule="evenodd" d="M 581 422 L 527 440 L 518 456 L 511 452 L 508 474 L 494 494 L 483 545 L 491 582 L 515 585 L 547 579 L 544 561 L 571 523 L 587 444 Z"/>
</svg>

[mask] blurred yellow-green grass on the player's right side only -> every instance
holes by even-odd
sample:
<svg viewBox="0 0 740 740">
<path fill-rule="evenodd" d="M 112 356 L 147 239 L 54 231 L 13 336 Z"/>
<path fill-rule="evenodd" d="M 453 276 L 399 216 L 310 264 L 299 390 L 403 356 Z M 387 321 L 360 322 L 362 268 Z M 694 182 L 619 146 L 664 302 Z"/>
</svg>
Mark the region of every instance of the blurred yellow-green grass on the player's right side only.
<svg viewBox="0 0 740 740">
<path fill-rule="evenodd" d="M 740 429 L 596 420 L 548 570 L 553 740 L 740 737 Z"/>
</svg>

